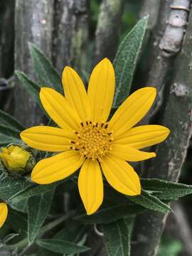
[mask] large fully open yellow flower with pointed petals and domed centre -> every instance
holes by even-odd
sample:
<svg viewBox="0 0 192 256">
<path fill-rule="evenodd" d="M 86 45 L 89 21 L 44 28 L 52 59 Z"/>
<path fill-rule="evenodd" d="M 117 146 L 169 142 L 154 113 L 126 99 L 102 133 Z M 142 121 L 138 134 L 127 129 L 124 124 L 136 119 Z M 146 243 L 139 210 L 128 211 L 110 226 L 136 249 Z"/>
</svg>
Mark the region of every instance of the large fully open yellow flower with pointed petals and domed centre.
<svg viewBox="0 0 192 256">
<path fill-rule="evenodd" d="M 159 125 L 134 127 L 153 104 L 156 89 L 137 90 L 107 121 L 114 97 L 114 69 L 110 60 L 105 58 L 96 65 L 87 92 L 70 67 L 63 70 L 62 81 L 65 97 L 47 87 L 40 92 L 43 107 L 60 128 L 38 126 L 21 132 L 21 139 L 35 149 L 63 151 L 39 161 L 32 171 L 32 180 L 52 183 L 81 166 L 78 188 L 87 214 L 95 213 L 102 204 L 102 173 L 117 191 L 139 195 L 139 176 L 127 161 L 156 156 L 139 149 L 162 142 L 169 134 L 169 129 Z"/>
</svg>

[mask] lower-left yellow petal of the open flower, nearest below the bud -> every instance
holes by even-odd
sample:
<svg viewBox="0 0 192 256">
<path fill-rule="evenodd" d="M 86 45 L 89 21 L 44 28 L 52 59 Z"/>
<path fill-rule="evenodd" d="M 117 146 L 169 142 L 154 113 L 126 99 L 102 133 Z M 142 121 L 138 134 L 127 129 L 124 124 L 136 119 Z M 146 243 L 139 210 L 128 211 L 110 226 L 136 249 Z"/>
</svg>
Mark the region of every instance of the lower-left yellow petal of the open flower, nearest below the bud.
<svg viewBox="0 0 192 256">
<path fill-rule="evenodd" d="M 80 159 L 80 154 L 72 150 L 51 156 L 36 164 L 31 179 L 38 184 L 60 181 L 78 170 L 83 161 L 84 159 Z"/>
</svg>

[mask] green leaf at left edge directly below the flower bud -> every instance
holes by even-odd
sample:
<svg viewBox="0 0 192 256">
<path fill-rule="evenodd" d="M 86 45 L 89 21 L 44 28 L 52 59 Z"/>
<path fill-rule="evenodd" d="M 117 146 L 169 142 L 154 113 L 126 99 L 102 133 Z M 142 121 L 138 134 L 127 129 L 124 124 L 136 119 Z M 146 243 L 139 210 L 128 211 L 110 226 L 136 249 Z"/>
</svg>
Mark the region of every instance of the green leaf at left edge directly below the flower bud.
<svg viewBox="0 0 192 256">
<path fill-rule="evenodd" d="M 26 191 L 27 188 L 33 186 L 31 182 L 24 178 L 6 177 L 1 181 L 0 198 L 11 204 L 11 199 L 19 193 Z"/>
</svg>

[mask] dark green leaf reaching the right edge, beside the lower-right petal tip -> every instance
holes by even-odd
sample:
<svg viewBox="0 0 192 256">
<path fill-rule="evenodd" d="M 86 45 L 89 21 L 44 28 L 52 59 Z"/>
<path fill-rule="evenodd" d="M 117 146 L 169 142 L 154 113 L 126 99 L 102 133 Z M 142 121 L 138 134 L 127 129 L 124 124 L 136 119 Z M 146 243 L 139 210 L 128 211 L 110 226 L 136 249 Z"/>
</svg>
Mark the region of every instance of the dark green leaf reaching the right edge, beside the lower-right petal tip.
<svg viewBox="0 0 192 256">
<path fill-rule="evenodd" d="M 142 178 L 141 183 L 145 190 L 155 192 L 155 196 L 161 200 L 176 200 L 192 193 L 191 185 L 164 181 L 158 178 Z"/>
</svg>

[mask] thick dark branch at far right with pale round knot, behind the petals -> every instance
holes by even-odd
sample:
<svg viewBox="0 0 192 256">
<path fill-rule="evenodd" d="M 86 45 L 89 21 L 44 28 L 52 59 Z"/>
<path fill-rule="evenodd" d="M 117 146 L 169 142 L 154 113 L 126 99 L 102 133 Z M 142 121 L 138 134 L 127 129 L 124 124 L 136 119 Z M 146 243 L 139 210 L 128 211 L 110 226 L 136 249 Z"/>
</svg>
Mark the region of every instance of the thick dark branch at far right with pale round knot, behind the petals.
<svg viewBox="0 0 192 256">
<path fill-rule="evenodd" d="M 174 76 L 169 87 L 166 88 L 169 91 L 171 87 L 171 90 L 168 92 L 164 114 L 161 116 L 161 124 L 169 127 L 171 135 L 163 145 L 157 146 L 157 157 L 147 172 L 149 178 L 178 181 L 183 161 L 186 158 L 192 134 L 191 33 L 192 13 L 189 17 L 183 48 L 174 63 Z M 166 215 L 152 211 L 137 218 L 134 230 L 136 245 L 133 246 L 133 256 L 156 255 L 165 220 Z"/>
</svg>

